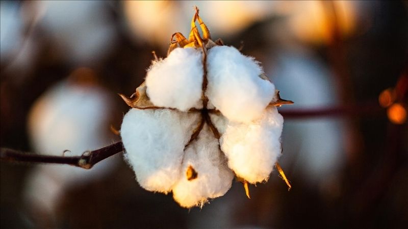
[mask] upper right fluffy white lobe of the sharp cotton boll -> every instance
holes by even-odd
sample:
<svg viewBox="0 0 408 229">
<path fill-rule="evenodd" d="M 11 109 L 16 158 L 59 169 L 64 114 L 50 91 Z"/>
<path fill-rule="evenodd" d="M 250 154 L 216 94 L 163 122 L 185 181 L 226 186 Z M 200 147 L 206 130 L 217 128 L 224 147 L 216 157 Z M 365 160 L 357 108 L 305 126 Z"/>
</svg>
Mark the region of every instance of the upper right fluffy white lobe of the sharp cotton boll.
<svg viewBox="0 0 408 229">
<path fill-rule="evenodd" d="M 272 100 L 275 86 L 262 79 L 262 68 L 236 48 L 215 46 L 208 50 L 206 95 L 231 121 L 258 119 Z"/>
</svg>

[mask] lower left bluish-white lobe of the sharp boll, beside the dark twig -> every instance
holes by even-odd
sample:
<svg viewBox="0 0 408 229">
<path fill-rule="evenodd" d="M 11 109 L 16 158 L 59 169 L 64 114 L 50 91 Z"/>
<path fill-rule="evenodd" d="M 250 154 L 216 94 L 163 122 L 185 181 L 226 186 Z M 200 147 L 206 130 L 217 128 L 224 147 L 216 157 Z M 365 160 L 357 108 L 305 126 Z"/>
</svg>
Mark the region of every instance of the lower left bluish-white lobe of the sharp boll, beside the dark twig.
<svg viewBox="0 0 408 229">
<path fill-rule="evenodd" d="M 179 180 L 183 150 L 198 117 L 170 109 L 126 113 L 120 130 L 125 158 L 143 188 L 167 193 Z"/>
</svg>

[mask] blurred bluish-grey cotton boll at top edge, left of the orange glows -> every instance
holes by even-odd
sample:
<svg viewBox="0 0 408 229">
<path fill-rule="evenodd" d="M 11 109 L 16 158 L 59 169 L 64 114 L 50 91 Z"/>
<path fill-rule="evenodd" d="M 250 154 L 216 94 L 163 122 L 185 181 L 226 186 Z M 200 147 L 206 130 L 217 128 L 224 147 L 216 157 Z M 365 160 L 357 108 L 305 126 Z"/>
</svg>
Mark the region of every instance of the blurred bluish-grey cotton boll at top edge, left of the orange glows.
<svg viewBox="0 0 408 229">
<path fill-rule="evenodd" d="M 73 64 L 103 59 L 113 48 L 115 27 L 105 1 L 37 1 L 39 25 Z"/>
</svg>

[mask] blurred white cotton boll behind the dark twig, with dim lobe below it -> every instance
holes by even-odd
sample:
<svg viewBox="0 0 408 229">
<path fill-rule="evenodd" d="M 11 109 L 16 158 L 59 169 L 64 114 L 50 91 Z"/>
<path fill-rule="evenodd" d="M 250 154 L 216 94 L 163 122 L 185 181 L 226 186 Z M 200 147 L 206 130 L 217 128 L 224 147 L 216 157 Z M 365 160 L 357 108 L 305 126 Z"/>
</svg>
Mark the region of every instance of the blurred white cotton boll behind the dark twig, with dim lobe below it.
<svg viewBox="0 0 408 229">
<path fill-rule="evenodd" d="M 29 137 L 33 151 L 62 156 L 79 156 L 115 141 L 110 133 L 113 112 L 111 94 L 91 79 L 75 78 L 79 69 L 41 96 L 33 105 L 29 120 Z M 116 139 L 117 140 L 117 139 Z M 90 170 L 60 164 L 39 165 L 28 176 L 24 196 L 33 212 L 51 215 L 56 211 L 65 189 L 101 179 L 116 166 L 120 156 L 97 163 Z M 53 220 L 50 218 L 50 220 Z"/>
</svg>

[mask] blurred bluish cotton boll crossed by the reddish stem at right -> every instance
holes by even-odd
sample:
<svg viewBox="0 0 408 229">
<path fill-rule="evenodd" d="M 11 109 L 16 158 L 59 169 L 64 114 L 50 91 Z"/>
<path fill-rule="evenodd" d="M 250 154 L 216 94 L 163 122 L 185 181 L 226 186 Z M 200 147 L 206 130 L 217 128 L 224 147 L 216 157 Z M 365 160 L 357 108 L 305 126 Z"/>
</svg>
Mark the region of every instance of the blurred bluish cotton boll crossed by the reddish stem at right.
<svg viewBox="0 0 408 229">
<path fill-rule="evenodd" d="M 296 101 L 293 106 L 280 110 L 320 108 L 340 103 L 331 73 L 311 53 L 282 52 L 276 60 L 276 66 L 269 70 L 269 74 L 273 76 L 273 82 L 281 90 L 283 98 Z M 304 177 L 315 185 L 339 173 L 346 156 L 343 124 L 338 119 L 320 117 L 286 121 L 282 137 L 285 155 L 282 163 L 293 164 L 295 171 L 292 176 Z"/>
</svg>

